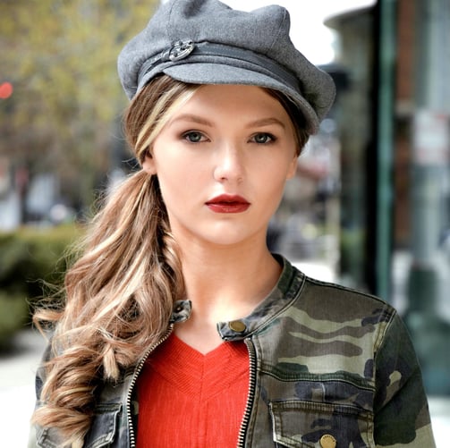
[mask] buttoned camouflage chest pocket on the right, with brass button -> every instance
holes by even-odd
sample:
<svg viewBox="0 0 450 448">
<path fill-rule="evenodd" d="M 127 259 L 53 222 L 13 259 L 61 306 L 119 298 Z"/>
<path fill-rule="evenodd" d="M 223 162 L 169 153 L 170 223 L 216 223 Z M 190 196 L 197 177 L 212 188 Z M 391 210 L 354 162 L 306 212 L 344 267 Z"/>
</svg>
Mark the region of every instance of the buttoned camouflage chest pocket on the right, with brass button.
<svg viewBox="0 0 450 448">
<path fill-rule="evenodd" d="M 306 401 L 269 402 L 268 407 L 276 446 L 375 448 L 373 417 L 367 410 Z"/>
</svg>

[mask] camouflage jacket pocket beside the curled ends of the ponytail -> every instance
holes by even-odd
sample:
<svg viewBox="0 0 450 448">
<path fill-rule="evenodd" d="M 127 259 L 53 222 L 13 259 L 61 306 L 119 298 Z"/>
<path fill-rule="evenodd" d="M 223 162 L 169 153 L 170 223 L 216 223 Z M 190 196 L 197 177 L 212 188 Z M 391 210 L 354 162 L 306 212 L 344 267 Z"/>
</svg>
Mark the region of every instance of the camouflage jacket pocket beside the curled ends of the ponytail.
<svg viewBox="0 0 450 448">
<path fill-rule="evenodd" d="M 117 419 L 121 410 L 121 403 L 98 405 L 83 446 L 85 448 L 101 448 L 112 444 L 117 436 Z"/>
</svg>

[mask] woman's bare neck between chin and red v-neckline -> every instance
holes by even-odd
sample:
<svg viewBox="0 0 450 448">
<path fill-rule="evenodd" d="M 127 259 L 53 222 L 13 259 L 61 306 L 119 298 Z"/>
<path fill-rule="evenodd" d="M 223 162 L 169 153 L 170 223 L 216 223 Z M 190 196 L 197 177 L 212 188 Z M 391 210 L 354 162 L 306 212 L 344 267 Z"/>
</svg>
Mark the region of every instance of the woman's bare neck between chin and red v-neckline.
<svg viewBox="0 0 450 448">
<path fill-rule="evenodd" d="M 242 247 L 181 246 L 191 318 L 175 332 L 206 352 L 221 342 L 217 322 L 245 317 L 276 285 L 281 266 L 264 243 Z M 208 341 L 208 343 L 205 343 Z"/>
</svg>

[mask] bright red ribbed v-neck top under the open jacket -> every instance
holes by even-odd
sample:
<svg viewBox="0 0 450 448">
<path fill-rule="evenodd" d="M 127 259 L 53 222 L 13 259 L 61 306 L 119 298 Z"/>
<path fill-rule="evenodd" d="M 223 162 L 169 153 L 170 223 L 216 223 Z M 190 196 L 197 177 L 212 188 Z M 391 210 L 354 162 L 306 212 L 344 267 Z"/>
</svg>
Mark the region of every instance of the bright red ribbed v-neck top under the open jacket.
<svg viewBox="0 0 450 448">
<path fill-rule="evenodd" d="M 243 342 L 203 355 L 172 334 L 140 374 L 137 447 L 235 447 L 248 390 Z"/>
</svg>

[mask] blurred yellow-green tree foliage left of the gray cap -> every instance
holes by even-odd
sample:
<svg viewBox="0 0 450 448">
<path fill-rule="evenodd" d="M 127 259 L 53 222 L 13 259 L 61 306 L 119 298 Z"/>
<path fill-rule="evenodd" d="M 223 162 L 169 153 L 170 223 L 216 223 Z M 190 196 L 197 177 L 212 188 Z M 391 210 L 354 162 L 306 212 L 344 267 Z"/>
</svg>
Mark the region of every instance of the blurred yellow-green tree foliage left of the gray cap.
<svg viewBox="0 0 450 448">
<path fill-rule="evenodd" d="M 14 90 L 0 99 L 0 157 L 30 176 L 58 173 L 63 192 L 89 205 L 112 149 L 123 145 L 117 55 L 157 3 L 2 0 L 0 83 Z"/>
</svg>

